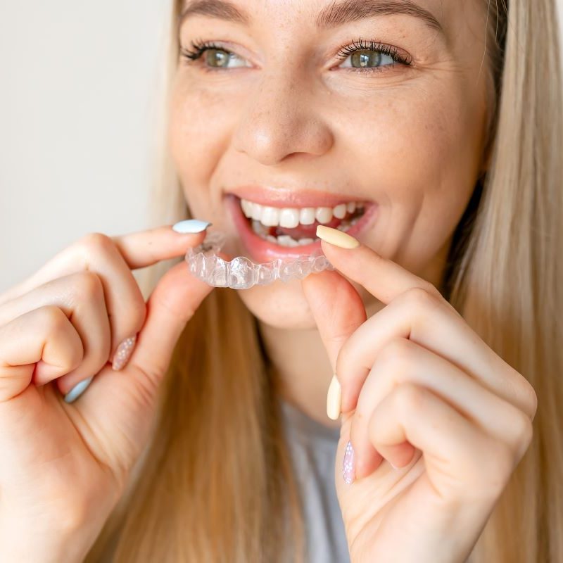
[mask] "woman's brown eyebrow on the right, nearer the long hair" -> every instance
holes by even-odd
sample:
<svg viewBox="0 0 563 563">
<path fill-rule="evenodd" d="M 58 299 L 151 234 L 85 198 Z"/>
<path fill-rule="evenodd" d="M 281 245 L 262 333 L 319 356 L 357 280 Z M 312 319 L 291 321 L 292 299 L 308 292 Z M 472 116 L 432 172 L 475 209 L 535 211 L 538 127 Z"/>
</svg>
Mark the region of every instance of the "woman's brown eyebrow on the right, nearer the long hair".
<svg viewBox="0 0 563 563">
<path fill-rule="evenodd" d="M 440 22 L 429 11 L 412 0 L 343 0 L 323 8 L 317 17 L 317 27 L 335 27 L 376 15 L 405 14 L 420 18 L 431 29 L 444 32 Z"/>
</svg>

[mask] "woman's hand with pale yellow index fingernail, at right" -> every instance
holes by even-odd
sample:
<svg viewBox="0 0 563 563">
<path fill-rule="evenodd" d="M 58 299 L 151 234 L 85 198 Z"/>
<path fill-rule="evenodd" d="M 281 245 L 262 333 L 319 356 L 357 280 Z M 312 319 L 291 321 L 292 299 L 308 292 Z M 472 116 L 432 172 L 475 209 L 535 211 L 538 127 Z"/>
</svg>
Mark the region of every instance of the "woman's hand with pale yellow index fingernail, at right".
<svg viewBox="0 0 563 563">
<path fill-rule="evenodd" d="M 342 389 L 336 493 L 350 560 L 464 562 L 529 447 L 536 393 L 428 281 L 363 244 L 322 249 L 386 305 L 367 320 L 338 271 L 303 279 Z"/>
</svg>

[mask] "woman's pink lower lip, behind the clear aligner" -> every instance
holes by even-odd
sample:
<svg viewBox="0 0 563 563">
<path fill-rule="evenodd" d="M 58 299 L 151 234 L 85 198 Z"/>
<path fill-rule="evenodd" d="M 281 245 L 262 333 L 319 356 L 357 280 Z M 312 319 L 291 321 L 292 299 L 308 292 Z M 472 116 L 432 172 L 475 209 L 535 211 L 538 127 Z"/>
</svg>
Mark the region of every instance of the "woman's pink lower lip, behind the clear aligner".
<svg viewBox="0 0 563 563">
<path fill-rule="evenodd" d="M 311 244 L 303 244 L 300 246 L 281 246 L 262 239 L 256 234 L 248 219 L 242 212 L 241 203 L 238 197 L 228 194 L 227 207 L 231 210 L 234 224 L 241 234 L 241 239 L 244 246 L 250 254 L 249 258 L 257 262 L 270 262 L 277 258 L 297 258 L 303 254 L 311 254 L 321 248 L 321 241 L 316 241 Z M 365 211 L 362 217 L 353 224 L 346 232 L 350 236 L 357 236 L 364 227 L 372 220 L 372 217 L 377 210 L 376 203 L 366 203 Z"/>
</svg>

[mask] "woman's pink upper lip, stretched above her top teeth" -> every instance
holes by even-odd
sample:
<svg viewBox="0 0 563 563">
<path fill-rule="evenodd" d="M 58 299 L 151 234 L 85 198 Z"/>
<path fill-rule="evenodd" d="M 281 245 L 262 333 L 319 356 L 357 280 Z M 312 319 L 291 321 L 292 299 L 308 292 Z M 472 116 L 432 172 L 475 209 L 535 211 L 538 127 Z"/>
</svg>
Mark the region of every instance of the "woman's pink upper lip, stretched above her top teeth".
<svg viewBox="0 0 563 563">
<path fill-rule="evenodd" d="M 278 208 L 335 207 L 340 203 L 364 201 L 348 194 L 331 194 L 314 189 L 296 191 L 272 186 L 236 186 L 228 189 L 227 193 L 260 205 Z"/>
</svg>

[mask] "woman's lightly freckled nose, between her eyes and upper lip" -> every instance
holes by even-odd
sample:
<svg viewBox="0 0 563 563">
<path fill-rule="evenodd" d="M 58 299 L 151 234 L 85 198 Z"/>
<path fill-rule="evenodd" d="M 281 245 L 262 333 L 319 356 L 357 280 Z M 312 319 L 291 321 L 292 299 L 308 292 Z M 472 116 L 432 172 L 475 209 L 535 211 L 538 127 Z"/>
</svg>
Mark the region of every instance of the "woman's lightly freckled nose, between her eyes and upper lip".
<svg viewBox="0 0 563 563">
<path fill-rule="evenodd" d="M 233 142 L 259 163 L 276 165 L 292 155 L 321 156 L 334 139 L 310 89 L 285 75 L 270 75 L 248 96 Z"/>
</svg>

